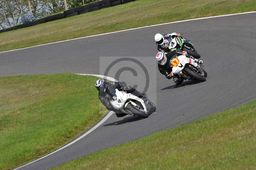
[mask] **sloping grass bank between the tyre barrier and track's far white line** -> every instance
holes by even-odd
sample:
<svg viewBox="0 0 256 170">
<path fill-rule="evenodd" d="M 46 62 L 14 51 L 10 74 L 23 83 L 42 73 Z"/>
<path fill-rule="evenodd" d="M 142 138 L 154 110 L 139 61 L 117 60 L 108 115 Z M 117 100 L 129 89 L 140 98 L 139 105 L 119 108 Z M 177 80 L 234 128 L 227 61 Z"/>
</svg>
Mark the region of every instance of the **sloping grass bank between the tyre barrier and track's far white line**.
<svg viewBox="0 0 256 170">
<path fill-rule="evenodd" d="M 256 11 L 255 0 L 139 0 L 1 33 L 0 51 L 184 19 Z"/>
</svg>

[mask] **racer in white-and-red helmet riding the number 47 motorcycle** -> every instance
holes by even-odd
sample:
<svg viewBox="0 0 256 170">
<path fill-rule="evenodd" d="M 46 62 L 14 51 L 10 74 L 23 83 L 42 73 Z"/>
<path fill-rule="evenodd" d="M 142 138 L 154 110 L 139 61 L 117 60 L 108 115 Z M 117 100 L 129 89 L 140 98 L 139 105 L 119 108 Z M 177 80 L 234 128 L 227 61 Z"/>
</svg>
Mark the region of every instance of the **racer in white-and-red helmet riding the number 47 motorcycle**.
<svg viewBox="0 0 256 170">
<path fill-rule="evenodd" d="M 193 66 L 197 67 L 198 64 L 203 64 L 203 60 L 197 60 L 196 58 L 193 58 L 192 56 L 188 55 L 186 51 L 173 51 L 165 54 L 164 52 L 158 52 L 156 54 L 156 60 L 158 62 L 158 70 L 160 73 L 164 74 L 167 79 L 173 79 L 174 84 L 176 86 L 180 86 L 181 83 L 184 81 L 183 77 L 180 77 L 178 74 L 173 74 L 172 73 L 172 66 L 169 65 L 170 60 L 172 56 L 177 54 L 178 56 L 180 55 L 185 55 L 188 58 L 190 58 L 190 62 Z M 198 63 L 198 64 L 197 64 Z"/>
</svg>

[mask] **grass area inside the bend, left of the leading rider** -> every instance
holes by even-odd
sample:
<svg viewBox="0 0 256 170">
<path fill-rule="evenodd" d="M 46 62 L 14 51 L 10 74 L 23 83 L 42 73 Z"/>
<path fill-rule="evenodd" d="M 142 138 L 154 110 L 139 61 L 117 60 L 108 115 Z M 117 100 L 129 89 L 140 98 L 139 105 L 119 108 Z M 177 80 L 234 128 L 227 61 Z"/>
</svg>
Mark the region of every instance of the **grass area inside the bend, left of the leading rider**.
<svg viewBox="0 0 256 170">
<path fill-rule="evenodd" d="M 0 77 L 0 169 L 60 148 L 105 111 L 97 77 L 71 73 Z"/>
</svg>

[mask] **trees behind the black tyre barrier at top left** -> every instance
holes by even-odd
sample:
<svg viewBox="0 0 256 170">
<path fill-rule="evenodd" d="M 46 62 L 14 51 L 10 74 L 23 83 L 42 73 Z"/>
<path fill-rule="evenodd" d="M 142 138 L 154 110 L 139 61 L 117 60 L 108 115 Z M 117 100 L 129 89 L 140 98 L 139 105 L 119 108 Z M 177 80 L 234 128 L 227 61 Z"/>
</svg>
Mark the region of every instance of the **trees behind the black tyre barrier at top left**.
<svg viewBox="0 0 256 170">
<path fill-rule="evenodd" d="M 67 0 L 68 9 L 97 0 Z M 31 11 L 36 19 L 63 12 L 64 0 L 30 0 Z M 21 24 L 21 16 L 29 12 L 28 0 L 0 1 L 0 29 Z"/>
</svg>

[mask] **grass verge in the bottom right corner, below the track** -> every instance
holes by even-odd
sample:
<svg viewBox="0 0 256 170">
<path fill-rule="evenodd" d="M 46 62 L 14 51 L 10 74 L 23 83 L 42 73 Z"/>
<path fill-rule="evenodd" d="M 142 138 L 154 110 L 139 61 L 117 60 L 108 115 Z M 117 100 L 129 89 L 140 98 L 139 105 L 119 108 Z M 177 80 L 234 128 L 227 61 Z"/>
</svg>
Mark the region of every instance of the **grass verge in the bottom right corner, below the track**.
<svg viewBox="0 0 256 170">
<path fill-rule="evenodd" d="M 54 169 L 256 169 L 256 101 Z"/>
</svg>

